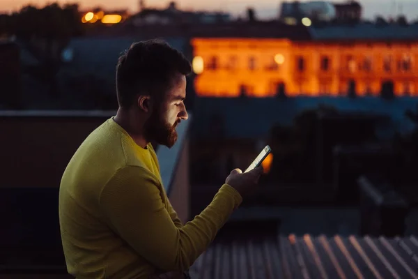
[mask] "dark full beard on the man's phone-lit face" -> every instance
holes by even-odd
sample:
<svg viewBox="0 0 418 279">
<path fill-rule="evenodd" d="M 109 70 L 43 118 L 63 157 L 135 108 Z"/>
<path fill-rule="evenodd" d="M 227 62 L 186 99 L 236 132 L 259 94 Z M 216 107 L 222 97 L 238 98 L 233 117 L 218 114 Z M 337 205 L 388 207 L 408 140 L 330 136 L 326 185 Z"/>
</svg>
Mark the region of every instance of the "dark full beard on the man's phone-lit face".
<svg viewBox="0 0 418 279">
<path fill-rule="evenodd" d="M 177 141 L 176 127 L 180 121 L 176 121 L 173 125 L 167 123 L 163 118 L 161 110 L 155 110 L 146 122 L 146 139 L 148 142 L 157 142 L 171 148 Z"/>
</svg>

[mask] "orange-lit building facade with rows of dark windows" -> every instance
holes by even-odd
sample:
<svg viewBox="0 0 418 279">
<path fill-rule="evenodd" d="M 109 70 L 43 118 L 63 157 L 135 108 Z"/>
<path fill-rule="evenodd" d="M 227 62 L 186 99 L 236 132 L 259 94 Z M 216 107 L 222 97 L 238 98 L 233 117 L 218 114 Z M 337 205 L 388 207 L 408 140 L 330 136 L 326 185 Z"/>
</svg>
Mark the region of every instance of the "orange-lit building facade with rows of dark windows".
<svg viewBox="0 0 418 279">
<path fill-rule="evenodd" d="M 194 38 L 198 96 L 418 96 L 418 42 Z"/>
</svg>

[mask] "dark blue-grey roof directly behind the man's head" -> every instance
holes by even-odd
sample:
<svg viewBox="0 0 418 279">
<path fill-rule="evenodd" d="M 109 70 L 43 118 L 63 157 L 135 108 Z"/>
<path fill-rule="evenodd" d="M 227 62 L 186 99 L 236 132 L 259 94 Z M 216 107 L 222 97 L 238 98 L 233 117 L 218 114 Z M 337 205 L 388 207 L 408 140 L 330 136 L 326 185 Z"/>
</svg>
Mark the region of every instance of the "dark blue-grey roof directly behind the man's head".
<svg viewBox="0 0 418 279">
<path fill-rule="evenodd" d="M 73 38 L 63 51 L 57 74 L 61 97 L 67 107 L 91 109 L 95 105 L 114 109 L 116 104 L 116 64 L 118 57 L 140 36 Z M 165 38 L 167 43 L 185 53 L 187 40 Z M 94 54 L 94 55 L 92 55 Z"/>
</svg>

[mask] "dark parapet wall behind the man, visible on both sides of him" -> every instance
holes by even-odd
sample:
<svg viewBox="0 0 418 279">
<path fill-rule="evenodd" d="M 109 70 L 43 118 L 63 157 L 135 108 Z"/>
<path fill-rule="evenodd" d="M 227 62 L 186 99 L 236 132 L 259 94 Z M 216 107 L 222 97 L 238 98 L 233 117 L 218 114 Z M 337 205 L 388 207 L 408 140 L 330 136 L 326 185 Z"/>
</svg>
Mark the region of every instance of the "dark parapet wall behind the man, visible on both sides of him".
<svg viewBox="0 0 418 279">
<path fill-rule="evenodd" d="M 1 278 L 68 278 L 59 236 L 59 183 L 79 144 L 112 115 L 0 111 Z M 180 123 L 178 142 L 171 149 L 157 148 L 164 187 L 183 222 L 189 218 L 190 122 Z"/>
</svg>

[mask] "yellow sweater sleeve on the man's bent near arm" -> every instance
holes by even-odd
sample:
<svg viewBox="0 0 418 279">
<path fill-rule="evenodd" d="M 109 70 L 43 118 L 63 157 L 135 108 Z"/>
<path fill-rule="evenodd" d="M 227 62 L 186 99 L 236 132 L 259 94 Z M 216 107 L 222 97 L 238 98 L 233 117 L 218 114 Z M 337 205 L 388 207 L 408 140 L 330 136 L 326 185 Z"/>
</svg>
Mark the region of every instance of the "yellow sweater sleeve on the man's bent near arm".
<svg viewBox="0 0 418 279">
<path fill-rule="evenodd" d="M 185 271 L 208 248 L 242 198 L 224 184 L 194 220 L 177 227 L 162 202 L 160 183 L 141 167 L 120 169 L 100 193 L 109 226 L 162 271 Z"/>
</svg>

